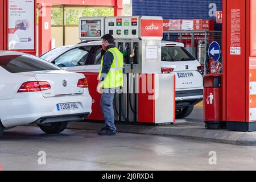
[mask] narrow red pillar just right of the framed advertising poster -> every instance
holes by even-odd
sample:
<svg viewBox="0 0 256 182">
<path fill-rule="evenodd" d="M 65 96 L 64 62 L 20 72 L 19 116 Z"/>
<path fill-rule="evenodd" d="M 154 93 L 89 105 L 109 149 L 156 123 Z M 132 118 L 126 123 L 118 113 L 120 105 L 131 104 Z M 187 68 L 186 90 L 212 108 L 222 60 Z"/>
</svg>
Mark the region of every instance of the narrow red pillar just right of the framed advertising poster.
<svg viewBox="0 0 256 182">
<path fill-rule="evenodd" d="M 38 55 L 51 49 L 51 5 L 38 5 Z"/>
</svg>

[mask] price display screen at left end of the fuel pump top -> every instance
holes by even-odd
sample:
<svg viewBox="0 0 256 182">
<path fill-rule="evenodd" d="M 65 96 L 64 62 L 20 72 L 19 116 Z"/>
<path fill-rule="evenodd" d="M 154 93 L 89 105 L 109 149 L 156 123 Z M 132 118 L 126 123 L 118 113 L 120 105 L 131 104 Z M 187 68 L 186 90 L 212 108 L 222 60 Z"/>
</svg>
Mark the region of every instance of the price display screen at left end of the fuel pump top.
<svg viewBox="0 0 256 182">
<path fill-rule="evenodd" d="M 101 37 L 101 20 L 81 20 L 81 37 Z"/>
</svg>

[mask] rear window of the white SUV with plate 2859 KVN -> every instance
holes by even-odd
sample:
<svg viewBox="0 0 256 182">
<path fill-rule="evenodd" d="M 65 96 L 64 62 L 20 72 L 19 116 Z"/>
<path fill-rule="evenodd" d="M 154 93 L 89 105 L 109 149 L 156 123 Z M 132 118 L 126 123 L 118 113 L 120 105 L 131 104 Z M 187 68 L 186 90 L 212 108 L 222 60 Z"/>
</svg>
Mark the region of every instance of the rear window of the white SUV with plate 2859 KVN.
<svg viewBox="0 0 256 182">
<path fill-rule="evenodd" d="M 162 61 L 193 61 L 195 57 L 184 47 L 162 47 Z"/>
</svg>

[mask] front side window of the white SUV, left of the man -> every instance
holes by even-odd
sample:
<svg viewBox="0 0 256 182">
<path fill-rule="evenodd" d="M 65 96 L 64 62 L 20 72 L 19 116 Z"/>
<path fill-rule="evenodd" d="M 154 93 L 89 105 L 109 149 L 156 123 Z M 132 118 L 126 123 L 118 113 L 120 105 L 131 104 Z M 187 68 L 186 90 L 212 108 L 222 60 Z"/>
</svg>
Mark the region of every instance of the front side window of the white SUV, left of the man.
<svg viewBox="0 0 256 182">
<path fill-rule="evenodd" d="M 53 63 L 58 67 L 75 67 L 85 65 L 90 49 L 92 49 L 92 46 L 71 49 L 58 57 Z"/>
</svg>

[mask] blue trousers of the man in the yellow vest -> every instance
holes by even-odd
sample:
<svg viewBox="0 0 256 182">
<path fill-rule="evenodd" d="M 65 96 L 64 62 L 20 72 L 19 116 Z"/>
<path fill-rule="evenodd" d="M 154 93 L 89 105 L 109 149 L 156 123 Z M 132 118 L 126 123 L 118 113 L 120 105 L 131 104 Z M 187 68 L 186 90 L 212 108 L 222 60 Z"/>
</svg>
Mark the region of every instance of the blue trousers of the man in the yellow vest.
<svg viewBox="0 0 256 182">
<path fill-rule="evenodd" d="M 114 93 L 102 93 L 101 95 L 101 111 L 104 115 L 105 125 L 109 127 L 110 130 L 115 131 L 117 128 L 114 123 Z"/>
</svg>

